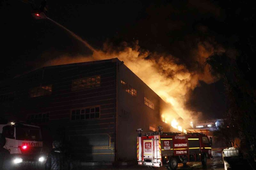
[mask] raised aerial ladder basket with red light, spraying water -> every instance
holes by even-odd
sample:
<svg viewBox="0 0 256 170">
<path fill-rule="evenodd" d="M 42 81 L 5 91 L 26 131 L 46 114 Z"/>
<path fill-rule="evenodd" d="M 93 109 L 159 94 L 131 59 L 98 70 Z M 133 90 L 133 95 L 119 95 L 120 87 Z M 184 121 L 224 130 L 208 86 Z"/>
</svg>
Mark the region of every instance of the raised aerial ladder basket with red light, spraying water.
<svg viewBox="0 0 256 170">
<path fill-rule="evenodd" d="M 23 3 L 30 4 L 32 10 L 31 15 L 35 19 L 45 19 L 47 18 L 48 8 L 46 6 L 46 0 L 40 2 L 36 0 L 21 0 Z M 40 5 L 38 5 L 40 3 Z"/>
</svg>

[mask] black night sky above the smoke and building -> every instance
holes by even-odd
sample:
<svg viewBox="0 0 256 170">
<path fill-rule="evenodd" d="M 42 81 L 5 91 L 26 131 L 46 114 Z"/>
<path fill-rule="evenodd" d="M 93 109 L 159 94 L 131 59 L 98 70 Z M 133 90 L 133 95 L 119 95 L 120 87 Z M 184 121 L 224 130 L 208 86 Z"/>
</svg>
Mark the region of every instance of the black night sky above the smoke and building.
<svg viewBox="0 0 256 170">
<path fill-rule="evenodd" d="M 236 48 L 244 32 L 237 23 L 248 19 L 250 12 L 243 8 L 250 4 L 231 1 L 47 1 L 47 5 L 49 18 L 95 48 L 106 41 L 118 46 L 139 40 L 141 48 L 174 55 L 190 70 L 195 67 L 191 51 L 200 41 Z M 30 11 L 23 1 L 1 1 L 1 80 L 63 54 L 91 53 L 51 21 L 33 19 Z M 188 107 L 220 118 L 226 110 L 223 88 L 221 80 L 200 82 Z"/>
</svg>

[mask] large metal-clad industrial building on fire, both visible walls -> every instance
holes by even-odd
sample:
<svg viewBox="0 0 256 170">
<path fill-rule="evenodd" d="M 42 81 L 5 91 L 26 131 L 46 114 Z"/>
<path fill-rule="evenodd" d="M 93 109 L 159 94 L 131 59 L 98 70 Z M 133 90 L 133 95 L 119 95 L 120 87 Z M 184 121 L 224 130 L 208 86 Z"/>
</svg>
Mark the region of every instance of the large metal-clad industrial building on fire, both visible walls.
<svg viewBox="0 0 256 170">
<path fill-rule="evenodd" d="M 1 116 L 39 125 L 45 151 L 61 138 L 83 161 L 136 159 L 138 128 L 177 131 L 161 119 L 168 104 L 117 58 L 43 67 L 0 90 Z"/>
</svg>

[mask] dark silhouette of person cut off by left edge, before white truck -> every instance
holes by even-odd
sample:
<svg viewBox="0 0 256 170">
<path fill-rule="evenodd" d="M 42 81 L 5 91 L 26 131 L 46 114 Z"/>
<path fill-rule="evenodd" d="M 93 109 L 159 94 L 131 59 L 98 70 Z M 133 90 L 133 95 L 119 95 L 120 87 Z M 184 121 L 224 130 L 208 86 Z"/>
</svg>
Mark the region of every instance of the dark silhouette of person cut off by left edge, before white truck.
<svg viewBox="0 0 256 170">
<path fill-rule="evenodd" d="M 11 154 L 7 149 L 3 148 L 5 143 L 5 137 L 0 134 L 0 170 L 11 168 Z"/>
</svg>

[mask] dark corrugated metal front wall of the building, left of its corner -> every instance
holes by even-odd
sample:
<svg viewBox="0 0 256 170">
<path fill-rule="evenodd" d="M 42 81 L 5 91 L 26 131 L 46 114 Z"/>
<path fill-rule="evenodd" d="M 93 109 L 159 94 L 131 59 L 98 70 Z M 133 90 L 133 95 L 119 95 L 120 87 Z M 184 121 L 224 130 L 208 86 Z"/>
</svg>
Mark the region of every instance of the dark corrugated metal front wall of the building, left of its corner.
<svg viewBox="0 0 256 170">
<path fill-rule="evenodd" d="M 72 80 L 92 76 L 100 76 L 99 87 L 72 90 Z M 29 89 L 45 85 L 52 85 L 51 95 L 29 97 Z M 1 94 L 15 92 L 15 100 L 0 103 L 1 110 L 23 121 L 30 116 L 34 122 L 36 116 L 36 124 L 44 129 L 46 145 L 62 138 L 81 160 L 115 160 L 116 62 L 46 67 L 5 81 L 1 86 Z M 72 110 L 98 107 L 100 118 L 71 120 Z M 49 122 L 42 122 L 44 113 L 50 113 Z"/>
</svg>

